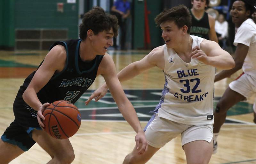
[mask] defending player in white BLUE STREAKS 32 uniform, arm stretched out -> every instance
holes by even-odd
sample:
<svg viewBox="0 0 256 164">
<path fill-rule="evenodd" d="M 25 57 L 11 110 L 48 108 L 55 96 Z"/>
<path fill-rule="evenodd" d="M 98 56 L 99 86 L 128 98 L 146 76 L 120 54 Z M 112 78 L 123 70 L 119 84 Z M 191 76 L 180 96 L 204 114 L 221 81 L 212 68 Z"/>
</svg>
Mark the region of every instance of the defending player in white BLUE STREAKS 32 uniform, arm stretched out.
<svg viewBox="0 0 256 164">
<path fill-rule="evenodd" d="M 153 49 L 118 73 L 120 82 L 153 67 L 162 69 L 165 76 L 162 98 L 144 129 L 148 151 L 138 154 L 134 147 L 124 163 L 146 163 L 178 135 L 188 163 L 208 163 L 213 150 L 215 67 L 231 69 L 235 62 L 218 43 L 189 35 L 191 16 L 186 6 L 165 10 L 155 21 L 163 31 L 164 46 Z M 104 84 L 85 103 L 97 96 L 96 101 L 99 100 L 106 92 Z"/>
</svg>

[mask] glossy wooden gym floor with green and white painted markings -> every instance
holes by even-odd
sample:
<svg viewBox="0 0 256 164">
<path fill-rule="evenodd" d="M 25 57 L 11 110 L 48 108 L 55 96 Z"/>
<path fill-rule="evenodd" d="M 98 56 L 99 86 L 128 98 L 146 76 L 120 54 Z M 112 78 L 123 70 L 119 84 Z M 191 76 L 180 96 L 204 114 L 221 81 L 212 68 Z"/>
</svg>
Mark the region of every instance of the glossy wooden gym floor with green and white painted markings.
<svg viewBox="0 0 256 164">
<path fill-rule="evenodd" d="M 117 72 L 133 61 L 140 60 L 149 51 L 109 51 L 116 63 Z M 12 104 L 24 79 L 44 59 L 46 51 L 0 51 L 0 134 L 13 121 Z M 240 71 L 241 72 L 241 71 Z M 228 83 L 236 75 L 215 83 L 214 104 L 218 102 Z M 97 89 L 104 82 L 97 77 L 95 82 L 76 103 L 83 117 L 83 122 L 75 136 L 70 138 L 76 158 L 74 164 L 120 164 L 135 145 L 132 128 L 120 117 L 110 95 L 102 101 L 84 106 L 91 90 Z M 164 85 L 163 72 L 153 68 L 134 79 L 123 82 L 127 97 L 134 105 L 144 127 L 150 118 L 148 111 L 158 104 Z M 222 126 L 218 138 L 218 152 L 212 155 L 210 163 L 256 163 L 256 126 L 252 119 L 254 97 L 232 108 L 227 122 Z M 160 158 L 159 158 L 160 157 Z M 11 164 L 47 163 L 51 157 L 35 144 L 28 152 L 13 160 Z M 148 164 L 186 163 L 180 137 L 161 148 Z"/>
</svg>

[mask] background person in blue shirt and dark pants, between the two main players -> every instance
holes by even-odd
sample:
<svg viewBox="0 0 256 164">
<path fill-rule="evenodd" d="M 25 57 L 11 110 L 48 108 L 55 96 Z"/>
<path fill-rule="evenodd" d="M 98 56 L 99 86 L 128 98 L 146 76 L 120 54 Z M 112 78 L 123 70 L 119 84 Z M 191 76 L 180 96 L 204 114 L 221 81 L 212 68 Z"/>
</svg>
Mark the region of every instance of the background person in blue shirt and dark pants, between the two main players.
<svg viewBox="0 0 256 164">
<path fill-rule="evenodd" d="M 121 45 L 120 49 L 125 50 L 125 41 L 126 41 L 126 19 L 130 15 L 130 2 L 127 0 L 117 0 L 111 8 L 111 13 L 116 15 L 118 19 L 118 25 L 120 26 L 121 30 Z M 113 38 L 114 47 L 116 48 L 116 38 Z"/>
</svg>

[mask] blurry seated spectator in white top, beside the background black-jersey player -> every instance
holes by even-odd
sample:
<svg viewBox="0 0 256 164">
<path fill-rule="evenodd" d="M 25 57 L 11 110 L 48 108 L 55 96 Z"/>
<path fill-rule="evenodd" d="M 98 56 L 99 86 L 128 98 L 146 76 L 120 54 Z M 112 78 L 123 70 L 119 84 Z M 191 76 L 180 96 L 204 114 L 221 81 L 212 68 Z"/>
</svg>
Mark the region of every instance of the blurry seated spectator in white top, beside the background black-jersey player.
<svg viewBox="0 0 256 164">
<path fill-rule="evenodd" d="M 223 14 L 220 14 L 217 20 L 215 20 L 215 31 L 218 36 L 220 47 L 225 49 L 226 39 L 228 37 L 228 22 L 225 20 Z"/>
</svg>

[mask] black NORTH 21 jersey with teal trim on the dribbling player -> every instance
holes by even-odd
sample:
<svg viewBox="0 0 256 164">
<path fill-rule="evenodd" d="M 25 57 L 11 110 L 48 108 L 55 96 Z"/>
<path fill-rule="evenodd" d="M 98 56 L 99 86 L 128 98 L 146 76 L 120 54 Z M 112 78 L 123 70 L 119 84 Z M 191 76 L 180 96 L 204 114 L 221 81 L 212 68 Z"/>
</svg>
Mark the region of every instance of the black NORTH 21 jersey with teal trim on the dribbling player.
<svg viewBox="0 0 256 164">
<path fill-rule="evenodd" d="M 60 73 L 55 73 L 50 81 L 37 93 L 42 104 L 57 100 L 67 100 L 75 103 L 94 82 L 103 55 L 97 55 L 90 62 L 83 62 L 79 55 L 80 43 L 81 39 L 58 41 L 51 46 L 50 50 L 56 45 L 64 46 L 67 51 L 67 60 L 65 68 Z M 37 111 L 26 104 L 22 98 L 22 94 L 35 73 L 36 71 L 30 74 L 23 85 L 20 86 L 13 104 L 15 119 L 21 125 L 28 127 L 39 126 L 36 118 Z"/>
</svg>

